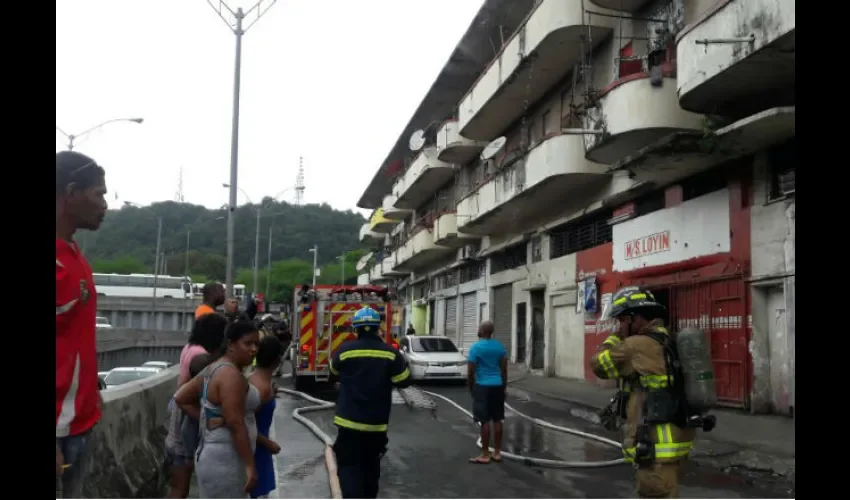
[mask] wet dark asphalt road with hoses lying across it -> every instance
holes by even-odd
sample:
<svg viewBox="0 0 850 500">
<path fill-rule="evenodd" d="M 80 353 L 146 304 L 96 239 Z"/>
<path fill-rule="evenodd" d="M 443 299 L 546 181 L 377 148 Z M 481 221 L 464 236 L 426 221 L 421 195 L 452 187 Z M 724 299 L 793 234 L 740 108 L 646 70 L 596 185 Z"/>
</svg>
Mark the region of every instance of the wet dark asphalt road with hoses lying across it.
<svg viewBox="0 0 850 500">
<path fill-rule="evenodd" d="M 290 386 L 288 380 L 281 382 Z M 466 389 L 427 386 L 471 409 Z M 316 395 L 333 400 L 330 390 Z M 607 435 L 599 426 L 575 414 L 561 402 L 511 391 L 508 403 L 554 424 Z M 311 403 L 281 394 L 274 438 L 282 451 L 276 458 L 279 498 L 328 498 L 322 443 L 291 418 L 295 408 Z M 436 413 L 393 407 L 389 451 L 383 459 L 381 498 L 632 498 L 633 471 L 620 465 L 595 469 L 544 469 L 505 460 L 501 464 L 470 464 L 477 449 L 477 427 L 456 408 L 438 400 Z M 570 413 L 570 412 L 573 413 Z M 333 412 L 309 413 L 325 432 L 335 436 Z M 615 437 L 616 439 L 616 437 Z M 505 420 L 504 448 L 525 456 L 570 461 L 618 458 L 617 449 L 541 428 L 510 412 Z M 764 478 L 728 475 L 692 465 L 681 488 L 684 498 L 793 498 L 784 484 Z"/>
</svg>

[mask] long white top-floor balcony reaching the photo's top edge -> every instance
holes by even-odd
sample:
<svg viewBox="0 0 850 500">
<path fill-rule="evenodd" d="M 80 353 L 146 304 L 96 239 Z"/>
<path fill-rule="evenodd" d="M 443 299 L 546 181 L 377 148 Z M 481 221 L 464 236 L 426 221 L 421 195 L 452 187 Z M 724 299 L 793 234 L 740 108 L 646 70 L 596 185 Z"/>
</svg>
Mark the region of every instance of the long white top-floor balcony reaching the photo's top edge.
<svg viewBox="0 0 850 500">
<path fill-rule="evenodd" d="M 607 40 L 617 19 L 587 17 L 577 0 L 543 0 L 461 100 L 460 133 L 494 139 L 581 62 L 583 52 Z"/>
</svg>

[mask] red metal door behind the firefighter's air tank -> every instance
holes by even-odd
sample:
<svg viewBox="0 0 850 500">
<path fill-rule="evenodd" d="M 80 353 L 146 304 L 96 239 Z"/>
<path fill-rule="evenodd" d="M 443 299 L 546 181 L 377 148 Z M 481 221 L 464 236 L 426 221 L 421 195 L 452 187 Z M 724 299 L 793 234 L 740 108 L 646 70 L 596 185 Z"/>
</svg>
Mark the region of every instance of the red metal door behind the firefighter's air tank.
<svg viewBox="0 0 850 500">
<path fill-rule="evenodd" d="M 670 324 L 701 328 L 711 342 L 718 404 L 749 405 L 750 353 L 747 286 L 743 277 L 673 285 Z"/>
</svg>

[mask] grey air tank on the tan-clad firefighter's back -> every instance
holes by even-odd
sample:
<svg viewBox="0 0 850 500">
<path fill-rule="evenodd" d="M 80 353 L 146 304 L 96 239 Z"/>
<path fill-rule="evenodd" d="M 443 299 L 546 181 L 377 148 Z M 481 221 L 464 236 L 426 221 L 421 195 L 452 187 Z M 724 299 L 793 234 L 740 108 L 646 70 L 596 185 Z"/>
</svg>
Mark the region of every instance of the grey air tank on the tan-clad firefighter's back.
<svg viewBox="0 0 850 500">
<path fill-rule="evenodd" d="M 717 404 L 717 387 L 708 335 L 699 328 L 684 328 L 676 334 L 676 350 L 688 406 L 697 413 L 714 407 Z"/>
</svg>

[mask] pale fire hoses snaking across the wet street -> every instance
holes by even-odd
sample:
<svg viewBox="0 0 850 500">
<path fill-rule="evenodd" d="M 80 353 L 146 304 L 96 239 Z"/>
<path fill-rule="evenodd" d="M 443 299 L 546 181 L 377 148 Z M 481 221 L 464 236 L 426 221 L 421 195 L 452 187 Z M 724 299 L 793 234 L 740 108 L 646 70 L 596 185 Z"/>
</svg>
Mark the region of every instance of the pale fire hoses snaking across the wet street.
<svg viewBox="0 0 850 500">
<path fill-rule="evenodd" d="M 290 378 L 291 376 L 292 376 L 291 374 L 286 374 L 282 378 Z M 511 381 L 509 381 L 508 383 L 510 383 L 510 382 Z M 339 479 L 336 477 L 336 473 L 335 473 L 335 471 L 336 471 L 336 460 L 334 458 L 334 454 L 333 454 L 333 451 L 331 449 L 331 447 L 333 446 L 334 440 L 331 436 L 329 436 L 322 429 L 320 429 L 318 425 L 316 425 L 314 422 L 312 422 L 310 419 L 308 419 L 307 417 L 305 417 L 303 415 L 303 413 L 312 413 L 312 412 L 317 412 L 317 411 L 330 410 L 330 409 L 333 409 L 336 405 L 334 403 L 321 400 L 319 398 L 313 397 L 309 394 L 306 394 L 306 393 L 303 393 L 303 392 L 300 392 L 300 391 L 295 391 L 295 390 L 292 390 L 292 389 L 285 389 L 285 388 L 278 388 L 277 390 L 278 390 L 278 392 L 283 392 L 285 394 L 289 394 L 291 396 L 295 396 L 295 397 L 304 399 L 304 400 L 309 401 L 311 403 L 316 403 L 314 406 L 305 406 L 305 407 L 301 407 L 301 408 L 294 410 L 292 412 L 292 418 L 295 419 L 296 421 L 298 421 L 299 423 L 301 423 L 302 425 L 304 425 L 305 427 L 307 427 L 307 429 L 309 429 L 310 432 L 312 432 L 317 438 L 319 438 L 320 441 L 325 443 L 325 445 L 326 445 L 325 462 L 326 462 L 326 465 L 328 467 L 328 476 L 329 476 L 330 483 L 331 483 L 331 495 L 332 495 L 332 498 L 341 498 L 341 492 L 340 492 L 340 489 L 339 489 Z M 461 406 L 457 402 L 453 401 L 452 399 L 450 399 L 446 396 L 443 396 L 442 394 L 437 394 L 435 392 L 430 392 L 430 391 L 424 391 L 424 390 L 417 389 L 417 388 L 414 388 L 414 387 L 399 390 L 399 393 L 402 395 L 402 398 L 404 398 L 405 403 L 409 407 L 411 407 L 411 408 L 418 407 L 420 409 L 429 409 L 429 410 L 432 410 L 434 412 L 434 415 L 436 416 L 436 406 L 434 405 L 433 401 L 430 401 L 430 402 L 422 401 L 424 398 L 422 398 L 421 396 L 418 396 L 416 394 L 416 392 L 430 396 L 431 398 L 441 399 L 441 400 L 445 401 L 446 403 L 457 408 L 459 411 L 461 411 L 463 414 L 465 414 L 467 417 L 469 417 L 470 420 L 473 418 L 472 413 L 469 412 L 466 408 L 464 408 L 463 406 Z M 420 401 L 416 401 L 417 396 L 418 396 L 418 399 Z M 530 421 L 530 422 L 532 422 L 536 425 L 539 425 L 543 428 L 550 429 L 550 430 L 553 430 L 553 431 L 556 431 L 556 432 L 571 434 L 571 435 L 574 435 L 574 436 L 577 436 L 577 437 L 580 437 L 580 438 L 584 438 L 584 439 L 589 439 L 589 440 L 592 440 L 592 441 L 596 441 L 598 443 L 609 445 L 612 448 L 616 448 L 617 450 L 620 450 L 620 448 L 621 448 L 621 444 L 617 441 L 612 440 L 612 439 L 608 439 L 606 437 L 598 436 L 596 434 L 591 434 L 591 433 L 588 433 L 588 432 L 583 432 L 583 431 L 580 431 L 578 429 L 572 429 L 572 428 L 569 428 L 569 427 L 563 427 L 563 426 L 560 426 L 560 425 L 555 425 L 551 422 L 547 422 L 547 421 L 541 420 L 539 418 L 531 417 L 529 415 L 526 415 L 525 413 L 522 413 L 521 411 L 517 410 L 516 408 L 512 407 L 511 405 L 509 405 L 507 403 L 505 404 L 505 408 L 510 410 L 512 413 L 519 416 L 520 418 L 524 418 L 524 419 L 526 419 L 526 420 L 528 420 L 528 421 Z M 477 441 L 476 444 L 479 448 L 481 447 L 481 438 L 480 437 L 478 438 L 478 441 Z M 490 448 L 490 451 L 492 452 L 493 449 Z M 527 456 L 523 456 L 523 455 L 509 453 L 509 452 L 506 452 L 506 451 L 502 451 L 501 453 L 502 453 L 502 456 L 504 458 L 509 459 L 509 460 L 521 462 L 525 465 L 531 465 L 531 466 L 537 466 L 537 467 L 549 467 L 549 468 L 599 468 L 599 467 L 611 467 L 611 466 L 615 466 L 615 465 L 622 465 L 622 464 L 626 463 L 623 458 L 617 458 L 617 459 L 614 459 L 614 460 L 586 462 L 586 461 L 551 460 L 551 459 L 544 459 L 544 458 L 527 457 Z"/>
</svg>

